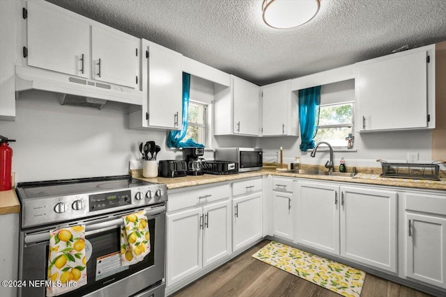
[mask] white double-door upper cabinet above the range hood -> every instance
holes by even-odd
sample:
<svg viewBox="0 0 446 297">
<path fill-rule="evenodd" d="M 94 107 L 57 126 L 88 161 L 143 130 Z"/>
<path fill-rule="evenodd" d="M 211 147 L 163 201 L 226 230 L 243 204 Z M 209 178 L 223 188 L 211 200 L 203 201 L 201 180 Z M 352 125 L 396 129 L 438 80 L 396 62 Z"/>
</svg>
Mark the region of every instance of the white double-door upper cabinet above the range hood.
<svg viewBox="0 0 446 297">
<path fill-rule="evenodd" d="M 45 1 L 28 1 L 26 8 L 23 45 L 27 56 L 23 56 L 28 66 L 106 83 L 77 81 L 75 77 L 62 79 L 88 88 L 95 86 L 121 94 L 139 91 L 139 38 Z M 51 72 L 36 75 L 54 79 Z"/>
</svg>

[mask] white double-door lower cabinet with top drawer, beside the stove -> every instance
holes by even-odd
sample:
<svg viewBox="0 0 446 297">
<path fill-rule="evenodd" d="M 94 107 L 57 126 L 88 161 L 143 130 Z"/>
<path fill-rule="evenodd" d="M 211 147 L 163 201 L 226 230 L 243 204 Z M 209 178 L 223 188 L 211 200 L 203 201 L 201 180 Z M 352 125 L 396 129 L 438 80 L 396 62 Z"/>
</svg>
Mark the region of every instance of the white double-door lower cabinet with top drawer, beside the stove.
<svg viewBox="0 0 446 297">
<path fill-rule="evenodd" d="M 169 207 L 176 211 L 167 213 L 167 286 L 231 254 L 231 201 L 226 196 L 225 200 L 206 202 L 214 194 L 226 192 L 225 187 L 230 193 L 227 184 L 178 192 L 169 197 L 169 203 L 172 202 Z M 222 191 L 215 193 L 217 190 Z M 184 200 L 195 204 L 195 194 L 201 204 L 176 209 Z"/>
</svg>

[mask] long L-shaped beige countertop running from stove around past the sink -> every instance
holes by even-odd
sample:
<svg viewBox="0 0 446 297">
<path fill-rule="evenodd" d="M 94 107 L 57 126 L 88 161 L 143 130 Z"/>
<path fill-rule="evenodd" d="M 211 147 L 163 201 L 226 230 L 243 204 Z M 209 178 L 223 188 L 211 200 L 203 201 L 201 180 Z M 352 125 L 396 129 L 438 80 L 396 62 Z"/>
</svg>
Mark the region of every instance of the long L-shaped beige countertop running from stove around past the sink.
<svg viewBox="0 0 446 297">
<path fill-rule="evenodd" d="M 275 169 L 263 169 L 252 172 L 240 172 L 235 175 L 199 175 L 187 177 L 155 177 L 145 178 L 141 175 L 142 170 L 130 170 L 132 177 L 146 182 L 166 184 L 168 189 L 184 188 L 187 186 L 199 186 L 202 184 L 212 184 L 215 182 L 227 182 L 247 177 L 258 177 L 262 175 L 275 175 L 279 177 L 294 177 L 302 179 L 320 179 L 333 182 L 351 182 L 354 184 L 376 184 L 380 186 L 400 186 L 405 188 L 420 188 L 429 190 L 446 190 L 446 179 L 440 181 L 420 180 L 420 179 L 394 179 L 379 177 L 377 174 L 358 173 L 355 177 L 336 177 L 328 175 L 302 175 L 289 172 L 280 172 Z"/>
</svg>

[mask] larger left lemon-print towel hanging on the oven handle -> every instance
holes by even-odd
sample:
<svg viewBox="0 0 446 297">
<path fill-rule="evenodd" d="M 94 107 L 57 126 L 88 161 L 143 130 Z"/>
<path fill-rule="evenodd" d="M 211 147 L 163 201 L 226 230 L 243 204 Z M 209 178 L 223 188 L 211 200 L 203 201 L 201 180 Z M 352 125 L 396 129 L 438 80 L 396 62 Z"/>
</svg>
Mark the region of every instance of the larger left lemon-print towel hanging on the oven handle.
<svg viewBox="0 0 446 297">
<path fill-rule="evenodd" d="M 86 284 L 85 225 L 49 232 L 47 296 L 58 296 Z"/>
</svg>

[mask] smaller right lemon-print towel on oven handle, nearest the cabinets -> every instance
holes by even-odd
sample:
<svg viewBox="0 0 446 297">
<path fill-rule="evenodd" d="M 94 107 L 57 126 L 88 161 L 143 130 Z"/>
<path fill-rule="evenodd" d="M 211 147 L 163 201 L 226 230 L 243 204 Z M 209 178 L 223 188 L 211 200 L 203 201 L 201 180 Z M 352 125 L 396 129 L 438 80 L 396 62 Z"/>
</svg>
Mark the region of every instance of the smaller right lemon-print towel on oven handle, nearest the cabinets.
<svg viewBox="0 0 446 297">
<path fill-rule="evenodd" d="M 146 211 L 123 216 L 121 225 L 121 265 L 138 263 L 151 252 Z"/>
</svg>

